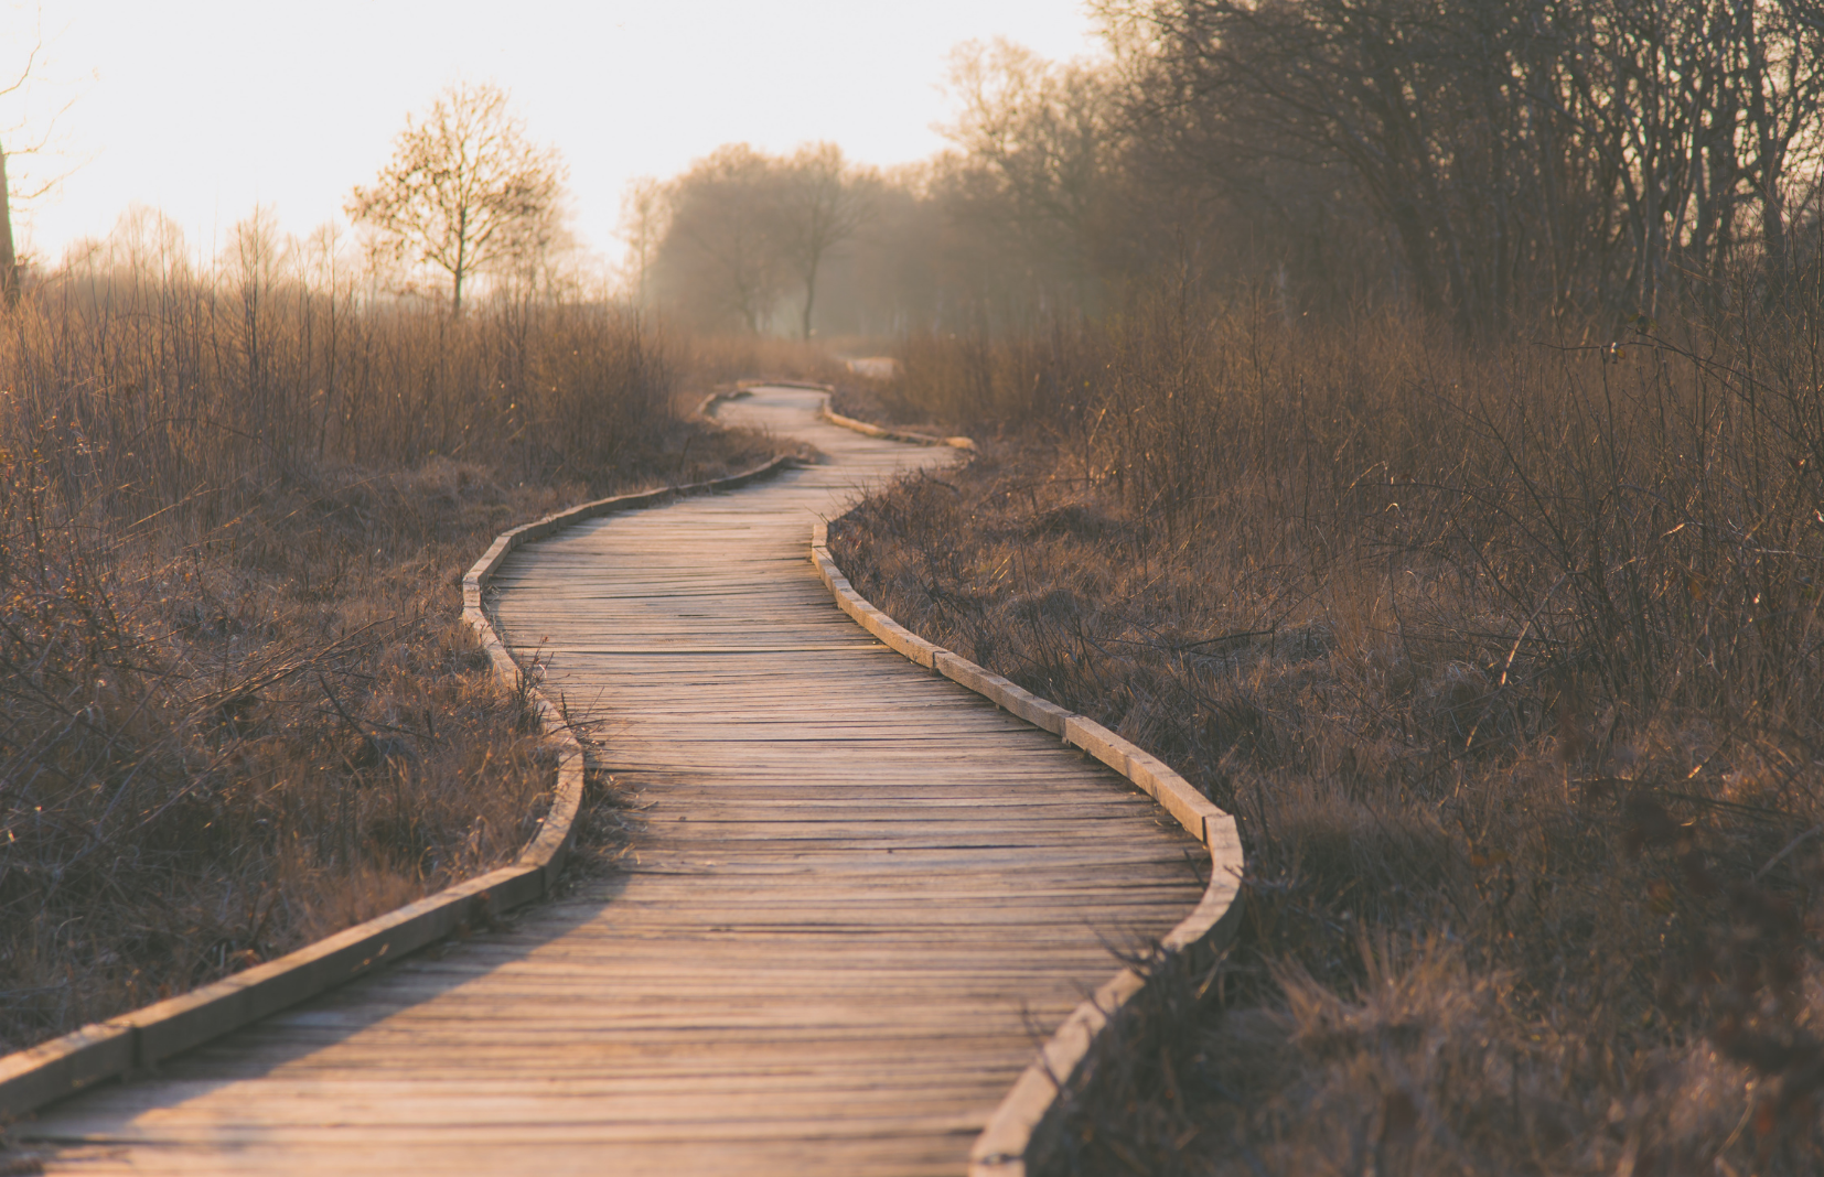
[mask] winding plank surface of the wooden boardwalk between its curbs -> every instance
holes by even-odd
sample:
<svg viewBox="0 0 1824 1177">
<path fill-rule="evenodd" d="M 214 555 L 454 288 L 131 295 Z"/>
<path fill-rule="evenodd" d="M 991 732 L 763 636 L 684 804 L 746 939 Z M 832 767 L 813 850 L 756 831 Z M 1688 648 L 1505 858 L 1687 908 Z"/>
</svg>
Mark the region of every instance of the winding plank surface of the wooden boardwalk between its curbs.
<svg viewBox="0 0 1824 1177">
<path fill-rule="evenodd" d="M 1036 1042 L 1207 856 L 1127 782 L 886 650 L 814 514 L 948 450 L 761 390 L 828 461 L 502 568 L 500 629 L 638 794 L 626 871 L 15 1126 L 49 1172 L 959 1175 Z"/>
</svg>

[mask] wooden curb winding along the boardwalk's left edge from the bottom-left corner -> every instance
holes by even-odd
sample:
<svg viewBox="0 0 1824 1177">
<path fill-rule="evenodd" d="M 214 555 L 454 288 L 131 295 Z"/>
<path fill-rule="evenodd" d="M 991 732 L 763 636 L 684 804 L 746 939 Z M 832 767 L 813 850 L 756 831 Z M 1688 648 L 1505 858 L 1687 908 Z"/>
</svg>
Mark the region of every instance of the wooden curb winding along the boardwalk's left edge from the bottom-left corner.
<svg viewBox="0 0 1824 1177">
<path fill-rule="evenodd" d="M 494 672 L 505 683 L 518 687 L 523 672 L 494 632 L 482 601 L 489 578 L 509 552 L 586 519 L 651 507 L 684 494 L 735 490 L 792 465 L 790 457 L 775 457 L 764 466 L 730 477 L 595 499 L 502 532 L 463 576 L 463 619 L 474 627 Z M 558 747 L 558 773 L 551 809 L 513 865 L 445 887 L 201 989 L 5 1055 L 0 1059 L 0 1122 L 36 1111 L 102 1079 L 148 1071 L 171 1055 L 354 980 L 443 936 L 487 926 L 496 913 L 549 893 L 564 867 L 576 811 L 582 805 L 584 754 L 562 709 L 533 683 L 525 685 L 540 723 Z"/>
</svg>

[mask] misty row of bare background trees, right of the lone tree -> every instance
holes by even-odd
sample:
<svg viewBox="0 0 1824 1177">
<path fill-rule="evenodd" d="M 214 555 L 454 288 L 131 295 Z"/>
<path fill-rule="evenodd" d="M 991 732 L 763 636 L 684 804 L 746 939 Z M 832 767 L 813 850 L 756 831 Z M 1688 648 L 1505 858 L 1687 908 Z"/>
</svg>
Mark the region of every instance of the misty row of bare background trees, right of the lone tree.
<svg viewBox="0 0 1824 1177">
<path fill-rule="evenodd" d="M 843 168 L 821 279 L 815 202 L 775 195 L 808 155 L 724 148 L 648 186 L 646 290 L 804 330 L 810 277 L 819 330 L 885 333 L 1094 315 L 1189 273 L 1293 317 L 1397 302 L 1476 330 L 1716 310 L 1817 248 L 1819 0 L 1094 7 L 1102 60 L 963 46 L 952 148 Z"/>
</svg>

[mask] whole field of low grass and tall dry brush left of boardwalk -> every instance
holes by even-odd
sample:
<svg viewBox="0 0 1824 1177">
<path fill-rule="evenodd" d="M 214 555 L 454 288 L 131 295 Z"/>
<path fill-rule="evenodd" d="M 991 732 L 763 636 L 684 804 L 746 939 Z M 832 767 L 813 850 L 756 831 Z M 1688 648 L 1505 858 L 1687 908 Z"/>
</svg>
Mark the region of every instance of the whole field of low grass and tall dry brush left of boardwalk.
<svg viewBox="0 0 1824 1177">
<path fill-rule="evenodd" d="M 257 257 L 0 321 L 0 1051 L 509 860 L 551 765 L 460 578 L 770 457 L 688 417 L 693 364 L 606 306 L 452 322 Z"/>
</svg>

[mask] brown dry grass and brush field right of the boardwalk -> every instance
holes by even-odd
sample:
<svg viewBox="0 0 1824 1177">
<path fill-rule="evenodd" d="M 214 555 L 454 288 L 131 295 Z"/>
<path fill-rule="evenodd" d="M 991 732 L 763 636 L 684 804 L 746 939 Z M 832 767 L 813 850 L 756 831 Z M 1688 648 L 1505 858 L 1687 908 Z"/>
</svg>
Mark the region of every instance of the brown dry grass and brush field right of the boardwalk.
<svg viewBox="0 0 1824 1177">
<path fill-rule="evenodd" d="M 1815 324 L 908 341 L 987 445 L 834 528 L 857 588 L 1248 842 L 1043 1172 L 1815 1172 Z"/>
</svg>

